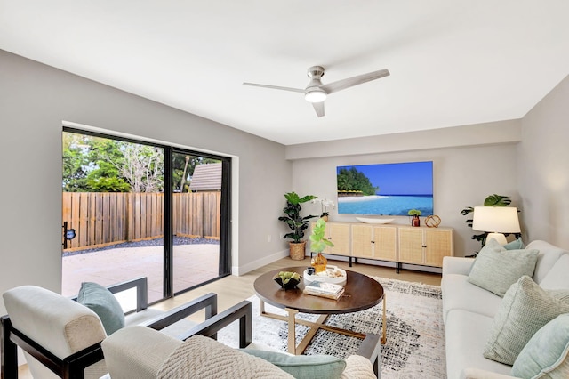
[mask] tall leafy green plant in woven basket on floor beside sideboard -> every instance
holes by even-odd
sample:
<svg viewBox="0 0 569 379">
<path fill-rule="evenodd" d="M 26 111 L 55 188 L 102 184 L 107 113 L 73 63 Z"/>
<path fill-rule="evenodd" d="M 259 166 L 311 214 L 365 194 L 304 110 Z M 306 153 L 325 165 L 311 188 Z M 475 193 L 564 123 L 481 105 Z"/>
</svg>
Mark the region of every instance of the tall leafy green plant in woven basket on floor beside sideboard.
<svg viewBox="0 0 569 379">
<path fill-rule="evenodd" d="M 304 259 L 306 250 L 306 240 L 302 240 L 302 238 L 304 238 L 305 230 L 309 228 L 309 220 L 317 217 L 312 214 L 302 216 L 301 204 L 317 197 L 307 195 L 301 198 L 296 192 L 288 192 L 284 194 L 284 198 L 286 198 L 286 206 L 283 208 L 284 216 L 280 216 L 278 220 L 284 222 L 292 230 L 290 233 L 286 233 L 284 238 L 292 239 L 289 243 L 291 258 L 301 261 Z"/>
</svg>

